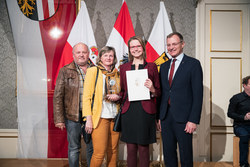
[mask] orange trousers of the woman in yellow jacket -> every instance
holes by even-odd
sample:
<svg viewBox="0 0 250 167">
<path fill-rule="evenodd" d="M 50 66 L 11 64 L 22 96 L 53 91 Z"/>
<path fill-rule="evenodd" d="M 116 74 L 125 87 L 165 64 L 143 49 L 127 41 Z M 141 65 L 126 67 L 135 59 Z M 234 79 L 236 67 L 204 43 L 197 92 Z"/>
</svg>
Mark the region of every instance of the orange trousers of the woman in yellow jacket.
<svg viewBox="0 0 250 167">
<path fill-rule="evenodd" d="M 107 153 L 107 167 L 116 167 L 119 132 L 113 131 L 113 119 L 100 118 L 98 126 L 92 132 L 93 155 L 90 167 L 102 165 Z"/>
</svg>

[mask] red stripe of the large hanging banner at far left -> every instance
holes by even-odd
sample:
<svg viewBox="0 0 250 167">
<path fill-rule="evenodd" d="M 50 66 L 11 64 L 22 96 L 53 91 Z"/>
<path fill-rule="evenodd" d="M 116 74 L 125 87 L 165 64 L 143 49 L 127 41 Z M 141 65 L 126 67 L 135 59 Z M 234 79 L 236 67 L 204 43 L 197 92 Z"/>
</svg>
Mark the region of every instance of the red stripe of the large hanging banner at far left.
<svg viewBox="0 0 250 167">
<path fill-rule="evenodd" d="M 44 4 L 43 4 L 44 5 Z M 45 9 L 45 8 L 44 8 Z M 48 11 L 48 10 L 44 10 Z M 47 62 L 47 94 L 48 94 L 48 158 L 66 158 L 67 153 L 67 133 L 56 128 L 53 120 L 53 79 L 57 71 L 58 63 L 75 20 L 75 0 L 62 2 L 55 15 L 46 21 L 39 22 L 44 53 Z M 48 14 L 48 13 L 47 13 Z M 72 17 L 73 15 L 73 17 Z M 67 24 L 65 24 L 67 23 Z M 62 32 L 62 36 L 52 38 L 51 30 L 57 28 Z"/>
</svg>

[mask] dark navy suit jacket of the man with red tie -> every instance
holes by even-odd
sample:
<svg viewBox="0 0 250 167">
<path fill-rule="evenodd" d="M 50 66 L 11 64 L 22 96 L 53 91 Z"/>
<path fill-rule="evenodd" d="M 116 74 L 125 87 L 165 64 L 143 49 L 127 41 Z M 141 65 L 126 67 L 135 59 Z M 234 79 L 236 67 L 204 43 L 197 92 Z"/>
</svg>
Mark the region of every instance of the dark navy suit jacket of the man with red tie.
<svg viewBox="0 0 250 167">
<path fill-rule="evenodd" d="M 171 87 L 168 82 L 170 63 L 171 61 L 167 61 L 160 68 L 162 97 L 159 118 L 163 120 L 166 117 L 170 98 L 175 121 L 198 124 L 203 101 L 203 75 L 200 62 L 184 55 Z"/>
</svg>

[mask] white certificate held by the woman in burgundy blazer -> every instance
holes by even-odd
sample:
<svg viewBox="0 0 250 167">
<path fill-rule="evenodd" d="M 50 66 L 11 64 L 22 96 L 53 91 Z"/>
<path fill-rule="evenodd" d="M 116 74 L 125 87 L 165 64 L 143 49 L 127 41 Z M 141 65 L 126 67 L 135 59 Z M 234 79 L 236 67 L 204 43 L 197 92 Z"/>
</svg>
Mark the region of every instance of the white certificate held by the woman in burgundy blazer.
<svg viewBox="0 0 250 167">
<path fill-rule="evenodd" d="M 146 79 L 148 79 L 148 70 L 131 70 L 126 71 L 127 86 L 128 86 L 128 100 L 149 100 L 149 89 L 144 86 Z"/>
</svg>

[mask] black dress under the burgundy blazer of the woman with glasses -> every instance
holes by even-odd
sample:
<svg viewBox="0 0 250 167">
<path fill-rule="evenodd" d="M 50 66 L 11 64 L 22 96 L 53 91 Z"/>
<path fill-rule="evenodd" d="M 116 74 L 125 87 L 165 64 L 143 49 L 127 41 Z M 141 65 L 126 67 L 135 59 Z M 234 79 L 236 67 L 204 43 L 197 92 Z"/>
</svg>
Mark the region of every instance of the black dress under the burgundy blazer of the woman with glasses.
<svg viewBox="0 0 250 167">
<path fill-rule="evenodd" d="M 135 66 L 131 66 L 134 70 Z M 140 65 L 139 69 L 143 69 Z M 140 101 L 130 102 L 127 112 L 122 114 L 121 141 L 147 145 L 156 142 L 155 114 L 144 111 Z"/>
</svg>

